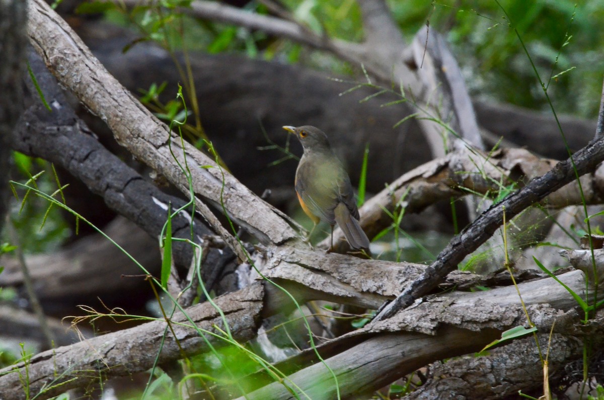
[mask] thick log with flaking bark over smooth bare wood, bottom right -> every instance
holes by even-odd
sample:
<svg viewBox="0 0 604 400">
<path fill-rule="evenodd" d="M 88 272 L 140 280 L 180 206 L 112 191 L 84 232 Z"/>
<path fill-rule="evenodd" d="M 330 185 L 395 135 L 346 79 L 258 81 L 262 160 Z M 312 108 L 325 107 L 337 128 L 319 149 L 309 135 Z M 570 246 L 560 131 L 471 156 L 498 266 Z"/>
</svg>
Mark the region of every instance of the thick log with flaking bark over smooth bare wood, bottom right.
<svg viewBox="0 0 604 400">
<path fill-rule="evenodd" d="M 585 296 L 585 281 L 580 271 L 559 278 Z M 574 309 L 577 303 L 559 283 L 553 279 L 543 279 L 522 283 L 518 287 L 539 331 L 549 332 L 555 323 L 554 332 L 583 336 L 575 325 L 577 314 Z M 345 397 L 377 390 L 425 366 L 431 359 L 440 360 L 444 353 L 451 356 L 476 352 L 499 338 L 502 331 L 525 323 L 526 315 L 513 286 L 471 294 L 453 292 L 430 298 L 389 320 L 329 341 L 318 350 L 338 375 L 341 393 Z M 600 318 L 598 324 L 601 323 Z M 547 340 L 547 335 L 544 337 Z M 525 344 L 535 351 L 535 341 Z M 547 342 L 541 343 L 541 346 L 547 347 Z M 551 366 L 555 369 L 568 360 L 569 353 L 561 348 L 553 350 L 561 351 L 553 358 L 560 363 Z M 359 358 L 359 354 L 363 356 Z M 289 378 L 313 400 L 334 398 L 335 385 L 330 372 L 321 363 L 310 361 L 312 359 L 312 349 L 309 349 L 284 361 L 306 366 Z M 249 393 L 248 398 L 263 399 L 268 393 L 280 399 L 294 398 L 278 383 Z"/>
</svg>

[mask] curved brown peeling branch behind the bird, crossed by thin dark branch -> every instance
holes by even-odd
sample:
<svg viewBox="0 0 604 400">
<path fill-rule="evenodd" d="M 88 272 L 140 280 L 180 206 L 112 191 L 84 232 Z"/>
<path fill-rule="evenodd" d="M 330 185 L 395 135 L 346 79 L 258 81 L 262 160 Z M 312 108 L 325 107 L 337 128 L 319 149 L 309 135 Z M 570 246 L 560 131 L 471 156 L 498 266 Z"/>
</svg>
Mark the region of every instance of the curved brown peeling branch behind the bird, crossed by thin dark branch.
<svg viewBox="0 0 604 400">
<path fill-rule="evenodd" d="M 419 213 L 429 205 L 469 193 L 494 196 L 509 185 L 522 187 L 530 179 L 544 175 L 555 164 L 556 161 L 538 158 L 525 149 L 486 153 L 461 148 L 405 173 L 365 202 L 359 210 L 361 226 L 369 237 L 373 237 L 392 224 L 388 213 L 396 210 L 404 210 L 405 214 Z M 600 204 L 604 199 L 602 173 L 604 167 L 600 166 L 596 172 L 582 176 L 583 194 L 574 181 L 550 193 L 542 204 L 550 209 L 583 202 Z M 333 237 L 336 251 L 349 250 L 341 230 L 335 230 Z M 329 246 L 329 237 L 319 246 Z"/>
</svg>

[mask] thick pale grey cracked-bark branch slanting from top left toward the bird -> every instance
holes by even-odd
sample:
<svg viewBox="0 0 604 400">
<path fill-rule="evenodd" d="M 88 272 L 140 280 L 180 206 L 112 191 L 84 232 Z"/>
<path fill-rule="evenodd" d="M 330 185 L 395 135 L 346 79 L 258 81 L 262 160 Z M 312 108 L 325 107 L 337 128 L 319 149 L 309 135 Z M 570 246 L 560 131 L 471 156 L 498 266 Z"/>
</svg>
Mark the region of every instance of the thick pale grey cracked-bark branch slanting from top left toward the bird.
<svg viewBox="0 0 604 400">
<path fill-rule="evenodd" d="M 165 124 L 159 122 L 104 69 L 82 40 L 45 2 L 30 0 L 28 6 L 28 34 L 34 48 L 59 82 L 108 124 L 118 143 L 164 175 L 187 196 L 187 175 L 180 166 L 188 166 L 198 207 L 202 207 L 200 198 L 213 202 L 217 207 L 224 205 L 234 221 L 262 242 L 280 244 L 297 237 L 290 226 L 291 221 L 283 213 L 251 193 L 214 160 L 171 134 Z M 66 69 L 66 65 L 70 68 Z M 213 228 L 220 230 L 216 226 Z M 237 241 L 226 230 L 220 231 L 220 235 L 240 259 L 246 258 Z"/>
</svg>

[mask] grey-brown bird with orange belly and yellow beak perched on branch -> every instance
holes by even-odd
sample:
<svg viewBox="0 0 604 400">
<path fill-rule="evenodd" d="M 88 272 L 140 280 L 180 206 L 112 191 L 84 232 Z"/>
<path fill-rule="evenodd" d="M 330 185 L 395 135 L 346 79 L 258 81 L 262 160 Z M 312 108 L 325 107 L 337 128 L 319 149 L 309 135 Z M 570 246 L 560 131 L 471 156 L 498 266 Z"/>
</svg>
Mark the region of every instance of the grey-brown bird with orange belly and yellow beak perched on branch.
<svg viewBox="0 0 604 400">
<path fill-rule="evenodd" d="M 284 126 L 283 129 L 295 134 L 304 148 L 296 170 L 296 193 L 302 209 L 315 227 L 319 221 L 325 221 L 332 228 L 330 250 L 333 249 L 333 225 L 336 222 L 350 247 L 368 249 L 369 239 L 359 225 L 359 210 L 350 178 L 333 152 L 327 135 L 309 125 Z"/>
</svg>

